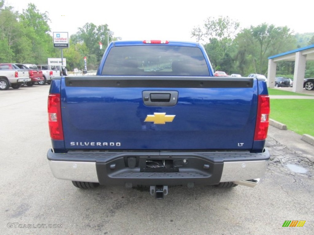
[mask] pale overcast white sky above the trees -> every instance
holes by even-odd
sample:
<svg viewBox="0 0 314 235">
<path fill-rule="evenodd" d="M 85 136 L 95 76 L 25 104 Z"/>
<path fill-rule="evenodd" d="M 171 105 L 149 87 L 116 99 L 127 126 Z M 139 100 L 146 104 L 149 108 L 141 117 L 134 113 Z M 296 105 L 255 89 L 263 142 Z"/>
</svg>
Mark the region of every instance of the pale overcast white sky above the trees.
<svg viewBox="0 0 314 235">
<path fill-rule="evenodd" d="M 122 40 L 179 40 L 191 38 L 194 27 L 208 17 L 229 16 L 241 28 L 262 23 L 288 26 L 295 33 L 314 32 L 314 3 L 307 0 L 5 0 L 22 13 L 28 3 L 48 12 L 51 32 L 75 34 L 86 23 L 107 24 Z"/>
</svg>

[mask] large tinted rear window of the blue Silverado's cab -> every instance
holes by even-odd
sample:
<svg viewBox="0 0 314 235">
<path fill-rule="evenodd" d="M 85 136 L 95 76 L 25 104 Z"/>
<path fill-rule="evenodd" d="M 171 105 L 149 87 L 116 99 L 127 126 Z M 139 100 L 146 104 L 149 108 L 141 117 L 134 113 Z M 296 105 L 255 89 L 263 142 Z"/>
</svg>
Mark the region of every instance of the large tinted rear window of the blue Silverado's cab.
<svg viewBox="0 0 314 235">
<path fill-rule="evenodd" d="M 143 45 L 111 48 L 101 74 L 209 76 L 209 71 L 197 47 Z"/>
</svg>

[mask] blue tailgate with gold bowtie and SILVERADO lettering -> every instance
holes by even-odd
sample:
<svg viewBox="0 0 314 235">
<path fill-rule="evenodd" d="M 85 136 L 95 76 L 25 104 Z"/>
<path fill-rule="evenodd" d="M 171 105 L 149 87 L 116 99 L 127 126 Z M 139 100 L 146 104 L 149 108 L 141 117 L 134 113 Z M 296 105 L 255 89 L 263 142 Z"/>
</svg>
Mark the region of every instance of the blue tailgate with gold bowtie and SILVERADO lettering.
<svg viewBox="0 0 314 235">
<path fill-rule="evenodd" d="M 62 77 L 65 147 L 251 149 L 257 90 L 253 78 Z"/>
</svg>

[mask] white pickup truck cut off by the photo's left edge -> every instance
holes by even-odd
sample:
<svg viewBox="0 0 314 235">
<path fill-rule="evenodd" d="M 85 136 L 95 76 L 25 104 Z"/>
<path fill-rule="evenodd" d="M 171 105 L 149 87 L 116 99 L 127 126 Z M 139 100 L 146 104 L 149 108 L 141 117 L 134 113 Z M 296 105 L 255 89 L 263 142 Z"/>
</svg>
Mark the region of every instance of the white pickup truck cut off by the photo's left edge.
<svg viewBox="0 0 314 235">
<path fill-rule="evenodd" d="M 24 82 L 29 82 L 28 70 L 8 69 L 8 65 L 0 64 L 0 90 L 19 89 Z"/>
</svg>

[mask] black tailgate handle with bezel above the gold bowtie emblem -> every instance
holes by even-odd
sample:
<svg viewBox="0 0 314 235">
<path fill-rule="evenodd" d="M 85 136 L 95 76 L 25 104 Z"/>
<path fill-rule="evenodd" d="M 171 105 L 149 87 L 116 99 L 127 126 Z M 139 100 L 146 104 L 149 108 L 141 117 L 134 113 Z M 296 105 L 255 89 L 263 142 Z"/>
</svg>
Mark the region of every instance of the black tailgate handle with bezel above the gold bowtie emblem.
<svg viewBox="0 0 314 235">
<path fill-rule="evenodd" d="M 175 106 L 178 91 L 143 91 L 143 102 L 146 106 Z"/>
</svg>

